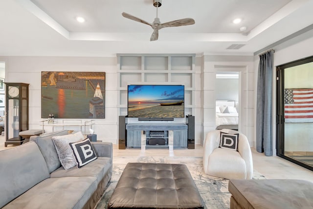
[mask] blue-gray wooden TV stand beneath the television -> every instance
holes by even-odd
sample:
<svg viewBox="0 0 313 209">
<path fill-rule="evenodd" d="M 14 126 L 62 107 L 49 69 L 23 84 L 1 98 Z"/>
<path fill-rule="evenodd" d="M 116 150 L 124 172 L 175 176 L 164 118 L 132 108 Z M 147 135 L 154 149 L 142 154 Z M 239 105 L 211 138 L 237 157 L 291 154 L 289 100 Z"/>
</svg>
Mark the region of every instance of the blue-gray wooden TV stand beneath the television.
<svg viewBox="0 0 313 209">
<path fill-rule="evenodd" d="M 142 131 L 146 138 L 146 147 L 168 146 L 169 131 L 173 131 L 174 147 L 187 147 L 188 145 L 188 126 L 185 123 L 129 123 L 126 125 L 126 130 L 127 147 L 141 147 Z M 152 145 L 154 143 L 151 139 L 159 140 L 156 140 L 158 143 Z"/>
</svg>

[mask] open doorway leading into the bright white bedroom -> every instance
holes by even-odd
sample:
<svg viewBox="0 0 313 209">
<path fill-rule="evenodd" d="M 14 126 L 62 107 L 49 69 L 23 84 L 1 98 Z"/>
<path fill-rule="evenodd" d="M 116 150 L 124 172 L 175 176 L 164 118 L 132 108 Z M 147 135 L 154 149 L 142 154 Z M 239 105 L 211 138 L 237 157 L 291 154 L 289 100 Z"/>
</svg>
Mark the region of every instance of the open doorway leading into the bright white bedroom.
<svg viewBox="0 0 313 209">
<path fill-rule="evenodd" d="M 218 71 L 215 82 L 215 125 L 238 131 L 239 125 L 239 71 Z"/>
</svg>

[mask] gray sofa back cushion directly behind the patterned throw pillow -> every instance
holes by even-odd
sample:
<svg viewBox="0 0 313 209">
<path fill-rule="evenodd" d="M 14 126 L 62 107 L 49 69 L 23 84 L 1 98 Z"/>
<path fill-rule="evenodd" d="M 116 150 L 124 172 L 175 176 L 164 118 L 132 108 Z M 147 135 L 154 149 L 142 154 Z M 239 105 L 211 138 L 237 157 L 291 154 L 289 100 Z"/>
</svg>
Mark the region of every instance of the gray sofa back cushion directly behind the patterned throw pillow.
<svg viewBox="0 0 313 209">
<path fill-rule="evenodd" d="M 38 147 L 45 158 L 45 162 L 47 163 L 50 173 L 61 166 L 57 150 L 55 149 L 51 138 L 53 136 L 62 135 L 67 135 L 67 130 L 51 132 L 42 136 L 30 138 L 30 140 L 34 140 L 38 144 Z"/>
</svg>

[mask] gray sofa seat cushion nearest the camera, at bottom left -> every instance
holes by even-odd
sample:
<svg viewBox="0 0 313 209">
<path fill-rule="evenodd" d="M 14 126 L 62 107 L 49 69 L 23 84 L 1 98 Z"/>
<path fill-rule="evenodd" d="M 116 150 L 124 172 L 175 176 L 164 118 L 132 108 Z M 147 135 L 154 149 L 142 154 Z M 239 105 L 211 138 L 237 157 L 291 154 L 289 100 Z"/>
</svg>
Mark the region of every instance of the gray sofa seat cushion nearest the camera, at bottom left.
<svg viewBox="0 0 313 209">
<path fill-rule="evenodd" d="M 3 209 L 82 209 L 96 188 L 95 177 L 49 178 Z"/>
</svg>

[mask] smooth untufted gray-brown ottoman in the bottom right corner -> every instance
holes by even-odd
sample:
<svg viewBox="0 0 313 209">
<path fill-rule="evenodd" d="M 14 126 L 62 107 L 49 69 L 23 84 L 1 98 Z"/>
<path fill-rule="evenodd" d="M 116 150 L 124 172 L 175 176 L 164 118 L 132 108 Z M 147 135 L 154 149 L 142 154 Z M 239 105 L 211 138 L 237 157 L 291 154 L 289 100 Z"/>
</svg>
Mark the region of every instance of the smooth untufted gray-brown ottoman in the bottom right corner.
<svg viewBox="0 0 313 209">
<path fill-rule="evenodd" d="M 296 179 L 229 180 L 230 209 L 313 209 L 313 183 Z"/>
</svg>

